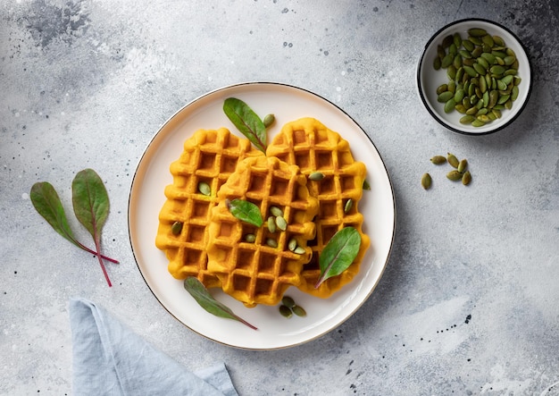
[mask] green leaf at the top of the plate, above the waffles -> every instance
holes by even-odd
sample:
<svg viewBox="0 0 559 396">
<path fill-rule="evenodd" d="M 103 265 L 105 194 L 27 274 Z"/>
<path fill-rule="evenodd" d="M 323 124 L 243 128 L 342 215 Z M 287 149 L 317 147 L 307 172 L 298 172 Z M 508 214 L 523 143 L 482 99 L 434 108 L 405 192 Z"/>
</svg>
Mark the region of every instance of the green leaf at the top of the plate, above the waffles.
<svg viewBox="0 0 559 396">
<path fill-rule="evenodd" d="M 266 152 L 267 137 L 264 122 L 245 102 L 235 97 L 229 97 L 223 103 L 223 112 L 238 131 L 246 136 L 246 139 L 249 139 L 263 153 Z"/>
</svg>

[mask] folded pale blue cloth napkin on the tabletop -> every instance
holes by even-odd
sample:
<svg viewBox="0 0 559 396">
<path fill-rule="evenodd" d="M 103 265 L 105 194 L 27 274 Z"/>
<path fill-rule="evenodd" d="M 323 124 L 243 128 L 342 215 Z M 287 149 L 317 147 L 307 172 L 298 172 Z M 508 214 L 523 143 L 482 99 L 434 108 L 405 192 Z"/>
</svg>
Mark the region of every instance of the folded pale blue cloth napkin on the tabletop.
<svg viewBox="0 0 559 396">
<path fill-rule="evenodd" d="M 224 364 L 192 373 L 87 299 L 70 324 L 75 395 L 238 395 Z"/>
</svg>

